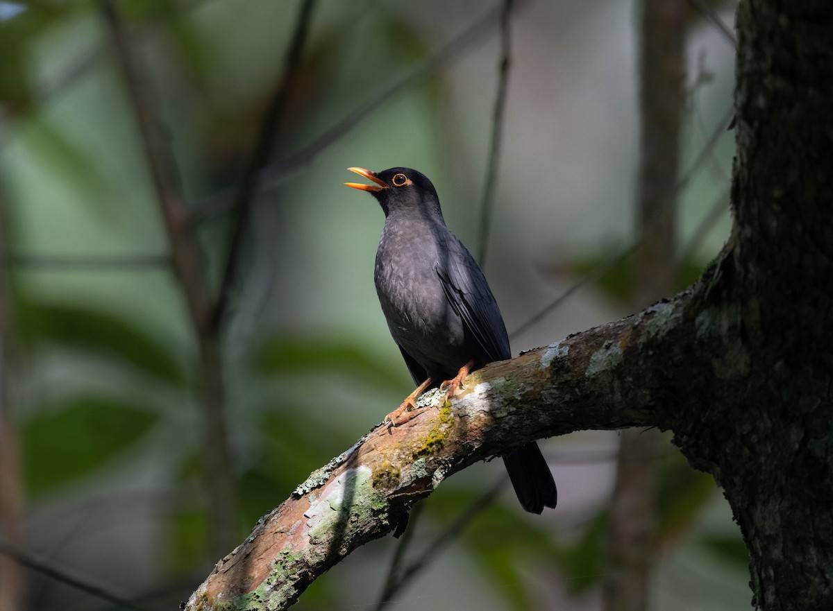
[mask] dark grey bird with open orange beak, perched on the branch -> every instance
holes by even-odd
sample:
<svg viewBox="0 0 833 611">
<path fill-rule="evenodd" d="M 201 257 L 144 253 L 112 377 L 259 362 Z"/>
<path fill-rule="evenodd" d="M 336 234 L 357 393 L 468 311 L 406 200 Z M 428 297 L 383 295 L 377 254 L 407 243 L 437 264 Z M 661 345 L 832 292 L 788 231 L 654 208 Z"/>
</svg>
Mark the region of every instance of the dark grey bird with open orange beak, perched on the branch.
<svg viewBox="0 0 833 611">
<path fill-rule="evenodd" d="M 389 427 L 410 420 L 416 398 L 441 388 L 451 398 L 471 371 L 511 358 L 501 310 L 486 276 L 446 227 L 430 180 L 408 167 L 374 172 L 348 168 L 372 184 L 345 182 L 374 196 L 385 213 L 373 279 L 393 340 L 416 390 L 387 415 Z M 526 511 L 555 508 L 556 483 L 536 442 L 503 456 Z"/>
</svg>

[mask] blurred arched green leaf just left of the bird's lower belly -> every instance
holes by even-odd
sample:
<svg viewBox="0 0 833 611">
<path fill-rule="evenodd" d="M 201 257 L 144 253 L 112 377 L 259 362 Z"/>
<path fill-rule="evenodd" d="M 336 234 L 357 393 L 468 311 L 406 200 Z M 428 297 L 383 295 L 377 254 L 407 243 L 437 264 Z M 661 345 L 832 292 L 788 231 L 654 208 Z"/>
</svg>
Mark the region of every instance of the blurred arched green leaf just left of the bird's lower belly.
<svg viewBox="0 0 833 611">
<path fill-rule="evenodd" d="M 258 350 L 256 367 L 267 374 L 337 370 L 396 392 L 402 391 L 402 380 L 406 379 L 406 369 L 399 361 L 392 365 L 352 343 L 296 335 L 267 340 Z"/>
</svg>

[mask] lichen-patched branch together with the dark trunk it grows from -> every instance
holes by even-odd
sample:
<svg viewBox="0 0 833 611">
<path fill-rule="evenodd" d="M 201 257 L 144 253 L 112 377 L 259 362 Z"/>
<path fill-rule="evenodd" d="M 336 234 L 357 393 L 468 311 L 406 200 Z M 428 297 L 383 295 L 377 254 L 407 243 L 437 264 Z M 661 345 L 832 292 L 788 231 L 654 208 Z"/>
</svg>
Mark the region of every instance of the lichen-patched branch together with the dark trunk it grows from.
<svg viewBox="0 0 833 611">
<path fill-rule="evenodd" d="M 754 604 L 833 604 L 833 4 L 742 2 L 730 242 L 695 286 L 373 430 L 217 564 L 188 609 L 284 609 L 448 475 L 527 440 L 656 426 L 724 489 Z M 569 494 L 569 491 L 565 491 Z"/>
</svg>

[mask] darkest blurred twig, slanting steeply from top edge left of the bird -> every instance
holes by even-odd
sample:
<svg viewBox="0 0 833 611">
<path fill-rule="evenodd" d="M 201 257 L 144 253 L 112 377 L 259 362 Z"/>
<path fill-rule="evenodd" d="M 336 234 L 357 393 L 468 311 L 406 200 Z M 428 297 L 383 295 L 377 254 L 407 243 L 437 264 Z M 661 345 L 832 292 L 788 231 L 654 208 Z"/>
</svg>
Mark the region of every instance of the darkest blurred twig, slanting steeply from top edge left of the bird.
<svg viewBox="0 0 833 611">
<path fill-rule="evenodd" d="M 226 256 L 226 267 L 222 275 L 217 301 L 212 311 L 211 325 L 213 327 L 222 324 L 223 315 L 227 309 L 229 293 L 232 291 L 239 267 L 238 259 L 240 258 L 243 233 L 247 228 L 252 201 L 257 196 L 260 171 L 267 165 L 269 156 L 272 155 L 277 132 L 286 111 L 287 101 L 292 92 L 292 87 L 297 82 L 302 50 L 307 41 L 307 33 L 309 32 L 310 22 L 312 22 L 312 11 L 315 8 L 315 3 L 316 0 L 304 0 L 302 2 L 301 10 L 298 12 L 295 22 L 295 32 L 293 32 L 292 41 L 287 47 L 283 77 L 275 89 L 272 101 L 269 103 L 266 115 L 263 117 L 257 142 L 240 180 L 240 187 L 233 204 L 235 214 Z"/>
</svg>

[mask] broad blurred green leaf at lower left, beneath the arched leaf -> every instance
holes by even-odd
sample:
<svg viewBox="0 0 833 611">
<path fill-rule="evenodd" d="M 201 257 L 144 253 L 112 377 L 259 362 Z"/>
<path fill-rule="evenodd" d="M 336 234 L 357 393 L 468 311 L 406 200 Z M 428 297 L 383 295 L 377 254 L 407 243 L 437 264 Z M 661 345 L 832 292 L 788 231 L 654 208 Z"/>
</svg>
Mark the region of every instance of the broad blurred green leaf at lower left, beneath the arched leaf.
<svg viewBox="0 0 833 611">
<path fill-rule="evenodd" d="M 157 416 L 122 400 L 74 397 L 48 409 L 22 428 L 30 494 L 93 474 L 135 444 Z"/>
</svg>

